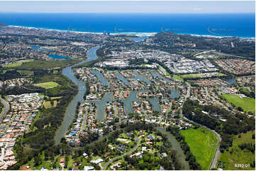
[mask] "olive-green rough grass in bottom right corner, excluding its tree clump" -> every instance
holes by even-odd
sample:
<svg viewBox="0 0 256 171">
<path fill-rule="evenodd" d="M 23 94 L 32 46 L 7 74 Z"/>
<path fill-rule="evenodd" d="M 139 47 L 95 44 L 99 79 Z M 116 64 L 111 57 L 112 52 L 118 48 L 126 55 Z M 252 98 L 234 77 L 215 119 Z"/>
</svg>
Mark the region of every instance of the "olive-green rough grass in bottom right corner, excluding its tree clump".
<svg viewBox="0 0 256 171">
<path fill-rule="evenodd" d="M 252 166 L 253 160 L 255 160 L 255 153 L 244 149 L 243 151 L 238 147 L 242 143 L 255 143 L 255 139 L 252 139 L 252 134 L 255 131 L 247 132 L 246 134 L 240 134 L 234 136 L 233 146 L 228 148 L 228 151 L 221 153 L 219 162 L 224 163 L 224 170 L 255 170 L 255 167 L 235 167 L 235 164 L 250 164 Z"/>
</svg>

